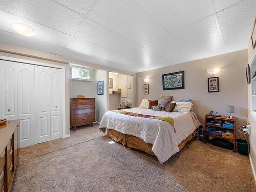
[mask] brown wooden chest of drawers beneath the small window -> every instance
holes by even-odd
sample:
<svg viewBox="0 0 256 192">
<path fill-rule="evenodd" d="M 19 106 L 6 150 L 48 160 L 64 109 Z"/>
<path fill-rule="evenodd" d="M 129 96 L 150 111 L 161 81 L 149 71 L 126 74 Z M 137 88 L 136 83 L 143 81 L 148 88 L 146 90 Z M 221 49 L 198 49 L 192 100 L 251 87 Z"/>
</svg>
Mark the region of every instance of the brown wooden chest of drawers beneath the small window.
<svg viewBox="0 0 256 192">
<path fill-rule="evenodd" d="M 70 99 L 70 126 L 91 124 L 95 121 L 95 98 Z"/>
</svg>

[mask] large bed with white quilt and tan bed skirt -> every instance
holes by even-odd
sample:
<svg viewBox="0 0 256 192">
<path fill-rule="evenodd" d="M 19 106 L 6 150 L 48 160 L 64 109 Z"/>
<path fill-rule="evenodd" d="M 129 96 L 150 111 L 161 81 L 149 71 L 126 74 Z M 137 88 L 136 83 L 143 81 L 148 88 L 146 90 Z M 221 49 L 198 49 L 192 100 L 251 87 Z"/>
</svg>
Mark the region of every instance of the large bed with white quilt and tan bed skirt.
<svg viewBox="0 0 256 192">
<path fill-rule="evenodd" d="M 130 116 L 126 113 L 145 115 L 145 117 Z M 173 122 L 156 117 L 173 119 Z M 155 155 L 159 162 L 163 163 L 179 152 L 185 143 L 195 136 L 200 125 L 194 112 L 169 113 L 132 108 L 106 112 L 102 117 L 99 130 L 102 132 L 107 130 L 108 135 L 115 141 Z"/>
</svg>

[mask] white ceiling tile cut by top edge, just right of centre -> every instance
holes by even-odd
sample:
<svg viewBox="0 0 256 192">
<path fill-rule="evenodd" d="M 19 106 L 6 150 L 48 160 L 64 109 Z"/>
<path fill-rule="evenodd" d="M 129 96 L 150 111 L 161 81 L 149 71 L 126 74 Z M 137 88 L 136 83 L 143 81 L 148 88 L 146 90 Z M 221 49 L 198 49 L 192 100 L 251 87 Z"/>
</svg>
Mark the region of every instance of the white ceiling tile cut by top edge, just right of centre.
<svg viewBox="0 0 256 192">
<path fill-rule="evenodd" d="M 168 32 L 174 32 L 215 13 L 212 0 L 135 0 Z"/>
</svg>

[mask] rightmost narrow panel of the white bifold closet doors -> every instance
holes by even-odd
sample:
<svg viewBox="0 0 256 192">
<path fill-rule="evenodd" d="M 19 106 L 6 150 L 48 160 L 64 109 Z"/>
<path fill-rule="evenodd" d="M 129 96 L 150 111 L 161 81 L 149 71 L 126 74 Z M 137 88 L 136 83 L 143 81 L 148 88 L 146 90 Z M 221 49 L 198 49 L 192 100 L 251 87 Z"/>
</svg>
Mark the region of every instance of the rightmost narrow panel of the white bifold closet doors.
<svg viewBox="0 0 256 192">
<path fill-rule="evenodd" d="M 61 75 L 62 70 L 51 68 L 51 140 L 62 137 L 62 94 Z"/>
</svg>

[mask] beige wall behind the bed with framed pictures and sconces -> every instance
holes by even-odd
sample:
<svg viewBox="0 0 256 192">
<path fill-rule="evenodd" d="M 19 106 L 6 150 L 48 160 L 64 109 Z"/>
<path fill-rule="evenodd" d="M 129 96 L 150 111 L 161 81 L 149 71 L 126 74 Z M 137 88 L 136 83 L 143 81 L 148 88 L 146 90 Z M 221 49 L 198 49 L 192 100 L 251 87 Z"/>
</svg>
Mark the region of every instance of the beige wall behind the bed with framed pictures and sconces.
<svg viewBox="0 0 256 192">
<path fill-rule="evenodd" d="M 245 67 L 247 50 L 237 51 L 215 57 L 181 63 L 174 66 L 136 74 L 136 106 L 141 99 L 157 99 L 161 95 L 172 95 L 174 99 L 191 98 L 193 107 L 204 126 L 204 116 L 209 111 L 218 111 L 227 115 L 227 105 L 235 106 L 235 114 L 241 119 L 247 117 L 247 84 Z M 209 75 L 206 70 L 220 67 L 217 75 Z M 162 89 L 162 74 L 184 71 L 185 89 Z M 220 92 L 208 93 L 207 78 L 219 77 Z M 149 94 L 143 94 L 143 78 L 150 78 Z"/>
</svg>

